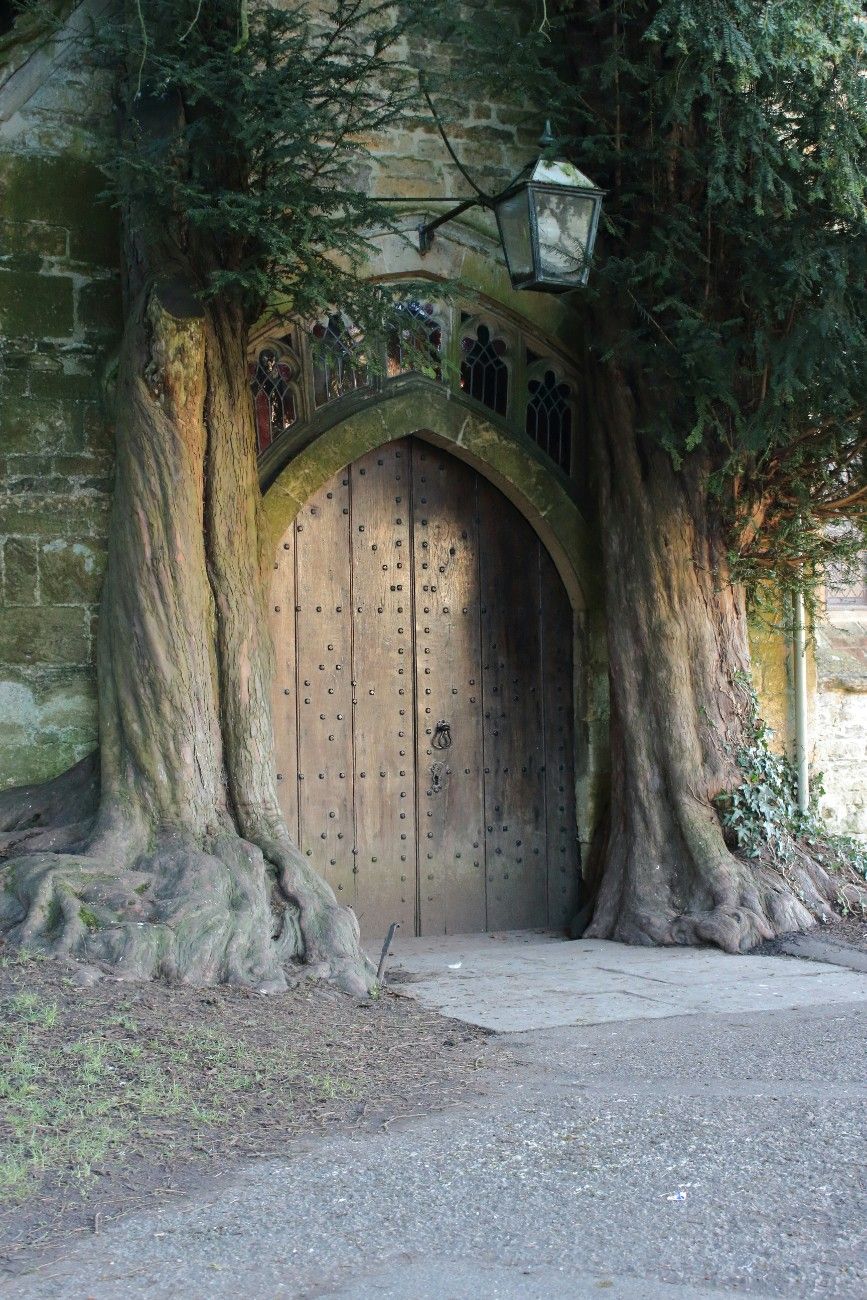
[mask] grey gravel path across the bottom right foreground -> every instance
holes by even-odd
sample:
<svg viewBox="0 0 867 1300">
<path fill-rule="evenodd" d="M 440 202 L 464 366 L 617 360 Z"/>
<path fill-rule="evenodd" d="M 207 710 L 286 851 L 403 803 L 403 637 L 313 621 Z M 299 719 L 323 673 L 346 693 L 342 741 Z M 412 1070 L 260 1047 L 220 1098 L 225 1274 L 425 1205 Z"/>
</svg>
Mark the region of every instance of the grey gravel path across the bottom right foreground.
<svg viewBox="0 0 867 1300">
<path fill-rule="evenodd" d="M 867 1294 L 864 1006 L 511 1035 L 487 1093 L 296 1143 L 12 1297 Z"/>
</svg>

